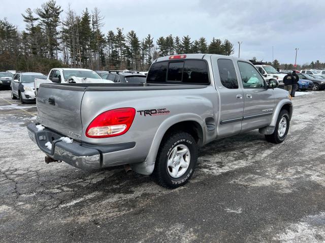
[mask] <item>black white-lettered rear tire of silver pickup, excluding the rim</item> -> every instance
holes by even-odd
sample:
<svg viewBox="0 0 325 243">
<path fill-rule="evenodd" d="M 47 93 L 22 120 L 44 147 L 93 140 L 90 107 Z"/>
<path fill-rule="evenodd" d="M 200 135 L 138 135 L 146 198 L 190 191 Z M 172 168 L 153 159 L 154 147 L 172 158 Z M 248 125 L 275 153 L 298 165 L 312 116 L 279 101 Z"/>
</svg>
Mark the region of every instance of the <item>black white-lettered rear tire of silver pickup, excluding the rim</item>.
<svg viewBox="0 0 325 243">
<path fill-rule="evenodd" d="M 180 144 L 185 145 L 190 152 L 189 166 L 182 176 L 174 178 L 168 172 L 167 161 L 172 149 Z M 181 131 L 168 134 L 160 143 L 153 176 L 159 185 L 171 189 L 177 188 L 189 181 L 194 173 L 197 161 L 198 145 L 190 134 Z"/>
</svg>

